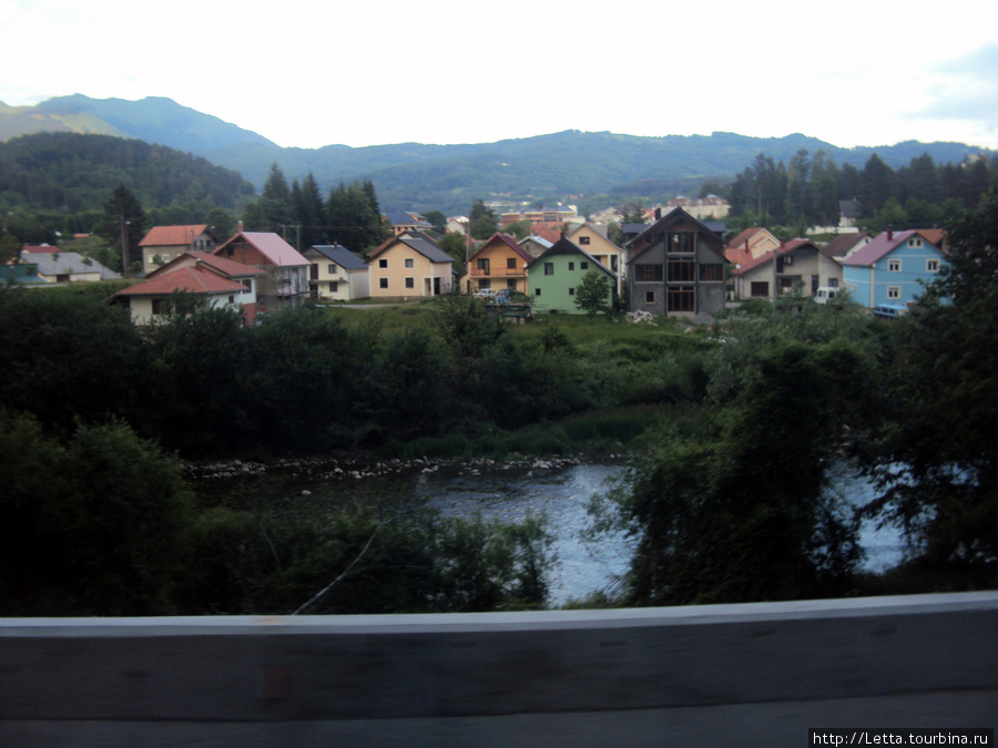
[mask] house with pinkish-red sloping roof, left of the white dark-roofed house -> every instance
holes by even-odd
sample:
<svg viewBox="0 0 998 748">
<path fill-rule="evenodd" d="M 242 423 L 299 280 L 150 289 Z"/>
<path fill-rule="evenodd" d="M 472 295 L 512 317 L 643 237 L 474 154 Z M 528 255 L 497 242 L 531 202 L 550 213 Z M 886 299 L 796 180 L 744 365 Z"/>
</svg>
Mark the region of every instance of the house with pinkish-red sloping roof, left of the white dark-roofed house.
<svg viewBox="0 0 998 748">
<path fill-rule="evenodd" d="M 308 296 L 310 263 L 277 234 L 241 228 L 212 254 L 264 270 L 256 290 L 261 314 L 298 307 Z"/>
</svg>

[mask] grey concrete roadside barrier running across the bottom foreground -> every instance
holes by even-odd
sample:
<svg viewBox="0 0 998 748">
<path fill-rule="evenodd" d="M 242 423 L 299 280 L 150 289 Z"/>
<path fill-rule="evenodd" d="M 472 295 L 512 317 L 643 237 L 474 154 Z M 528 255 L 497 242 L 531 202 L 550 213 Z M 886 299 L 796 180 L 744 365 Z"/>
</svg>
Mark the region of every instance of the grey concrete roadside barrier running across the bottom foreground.
<svg viewBox="0 0 998 748">
<path fill-rule="evenodd" d="M 3 746 L 804 746 L 808 727 L 996 715 L 998 593 L 0 619 Z"/>
</svg>

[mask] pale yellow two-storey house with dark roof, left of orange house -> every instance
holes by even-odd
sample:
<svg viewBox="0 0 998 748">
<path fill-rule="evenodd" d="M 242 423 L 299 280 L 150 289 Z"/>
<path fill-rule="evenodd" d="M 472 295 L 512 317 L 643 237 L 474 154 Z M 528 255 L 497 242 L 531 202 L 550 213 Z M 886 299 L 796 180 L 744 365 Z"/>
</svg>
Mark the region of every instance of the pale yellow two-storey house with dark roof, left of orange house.
<svg viewBox="0 0 998 748">
<path fill-rule="evenodd" d="M 414 298 L 449 294 L 454 259 L 422 234 L 400 234 L 370 253 L 371 298 Z"/>
</svg>

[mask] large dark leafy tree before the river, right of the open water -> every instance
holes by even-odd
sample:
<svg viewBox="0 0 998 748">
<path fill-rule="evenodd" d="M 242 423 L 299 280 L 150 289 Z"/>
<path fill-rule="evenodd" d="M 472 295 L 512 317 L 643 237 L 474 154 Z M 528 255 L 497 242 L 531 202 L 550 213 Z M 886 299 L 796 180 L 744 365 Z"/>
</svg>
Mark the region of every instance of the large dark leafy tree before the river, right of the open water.
<svg viewBox="0 0 998 748">
<path fill-rule="evenodd" d="M 827 312 L 827 314 L 826 314 Z M 627 602 L 641 605 L 841 594 L 857 524 L 826 465 L 857 426 L 865 350 L 823 310 L 741 325 L 711 367 L 711 399 L 663 427 L 614 494 L 637 540 Z M 827 338 L 827 341 L 821 338 Z M 612 515 L 612 512 L 611 512 Z"/>
</svg>

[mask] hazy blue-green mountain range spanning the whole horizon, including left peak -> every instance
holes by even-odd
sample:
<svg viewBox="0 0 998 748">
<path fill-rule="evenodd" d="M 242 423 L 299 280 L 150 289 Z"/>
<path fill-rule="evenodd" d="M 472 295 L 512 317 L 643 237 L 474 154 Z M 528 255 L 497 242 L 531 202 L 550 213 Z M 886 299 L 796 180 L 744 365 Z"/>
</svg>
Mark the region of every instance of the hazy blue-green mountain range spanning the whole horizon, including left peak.
<svg viewBox="0 0 998 748">
<path fill-rule="evenodd" d="M 475 199 L 505 196 L 532 203 L 695 194 L 705 181 L 725 183 L 762 153 L 787 162 L 800 150 L 824 151 L 835 163 L 859 168 L 876 153 L 889 166 L 928 153 L 959 163 L 995 152 L 961 143 L 908 141 L 892 146 L 842 148 L 801 134 L 748 137 L 735 133 L 645 137 L 566 131 L 470 145 L 403 143 L 367 147 L 284 148 L 267 139 L 171 99 L 49 99 L 37 106 L 0 102 L 0 141 L 35 132 L 99 133 L 159 143 L 237 171 L 259 188 L 277 163 L 288 178 L 309 172 L 324 189 L 370 180 L 384 209 L 467 213 Z"/>
</svg>

